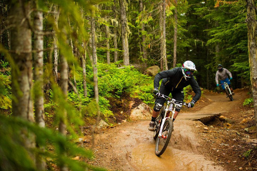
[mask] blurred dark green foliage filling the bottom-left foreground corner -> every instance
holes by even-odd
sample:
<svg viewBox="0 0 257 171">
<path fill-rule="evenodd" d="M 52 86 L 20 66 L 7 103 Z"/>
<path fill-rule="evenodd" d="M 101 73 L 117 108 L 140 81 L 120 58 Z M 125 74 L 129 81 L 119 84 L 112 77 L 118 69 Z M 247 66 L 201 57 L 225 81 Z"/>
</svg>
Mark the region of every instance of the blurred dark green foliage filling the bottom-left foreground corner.
<svg viewBox="0 0 257 171">
<path fill-rule="evenodd" d="M 37 170 L 31 159 L 34 156 L 49 157 L 54 160 L 51 162 L 60 166 L 65 164 L 70 170 L 84 171 L 104 170 L 88 165 L 85 162 L 72 160 L 75 156 L 83 156 L 85 158 L 92 157 L 90 150 L 76 147 L 76 144 L 69 142 L 65 136 L 51 129 L 40 128 L 37 124 L 25 121 L 20 118 L 6 118 L 0 115 L 0 169 L 1 170 Z M 26 134 L 27 139 L 24 139 Z M 48 150 L 42 150 L 35 146 L 24 146 L 25 141 L 31 141 L 35 137 L 39 146 L 51 146 L 54 153 Z M 27 144 L 27 143 L 26 143 Z M 68 156 L 63 151 L 66 150 Z M 48 163 L 48 167 L 52 165 Z"/>
</svg>

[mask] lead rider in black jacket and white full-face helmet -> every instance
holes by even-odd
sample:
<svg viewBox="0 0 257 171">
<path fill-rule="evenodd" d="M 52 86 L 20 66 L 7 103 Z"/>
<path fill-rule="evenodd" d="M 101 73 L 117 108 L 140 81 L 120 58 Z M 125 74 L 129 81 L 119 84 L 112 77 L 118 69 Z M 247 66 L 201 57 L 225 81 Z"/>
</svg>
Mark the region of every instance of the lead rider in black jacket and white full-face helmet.
<svg viewBox="0 0 257 171">
<path fill-rule="evenodd" d="M 189 102 L 188 107 L 194 107 L 195 103 L 199 100 L 201 96 L 201 89 L 193 76 L 194 71 L 196 71 L 195 64 L 192 61 L 185 61 L 182 67 L 176 67 L 170 70 L 161 71 L 160 73 L 155 75 L 153 80 L 153 93 L 157 95 L 157 98 L 155 99 L 152 119 L 148 127 L 149 131 L 154 131 L 154 122 L 165 102 L 165 99 L 159 97 L 160 94 L 169 96 L 169 94 L 171 93 L 172 98 L 178 101 L 183 101 L 185 97 L 183 88 L 191 85 L 193 91 L 195 92 L 195 96 L 193 97 L 191 102 Z M 158 90 L 160 85 L 159 82 L 161 79 L 162 83 L 160 86 L 160 90 Z M 182 105 L 177 103 L 175 114 L 173 116 L 173 121 L 176 119 L 181 108 Z"/>
</svg>

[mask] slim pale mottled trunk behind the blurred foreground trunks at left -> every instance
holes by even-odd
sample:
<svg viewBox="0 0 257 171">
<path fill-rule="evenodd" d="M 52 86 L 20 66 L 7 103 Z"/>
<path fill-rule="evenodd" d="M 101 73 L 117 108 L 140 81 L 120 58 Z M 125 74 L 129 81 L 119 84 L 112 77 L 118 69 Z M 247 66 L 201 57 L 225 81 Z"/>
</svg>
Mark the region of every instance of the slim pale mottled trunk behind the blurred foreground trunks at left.
<svg viewBox="0 0 257 171">
<path fill-rule="evenodd" d="M 58 8 L 58 6 L 57 5 L 54 5 L 53 6 L 53 10 L 54 10 L 54 12 L 55 12 L 55 14 L 54 14 L 54 23 L 55 23 L 55 27 L 56 27 L 56 29 L 54 29 L 54 31 L 56 31 L 57 29 L 58 29 L 58 18 L 59 18 L 59 16 L 58 16 L 58 14 L 56 14 L 57 13 L 57 8 Z M 53 60 L 53 71 L 54 71 L 54 80 L 55 80 L 55 82 L 57 83 L 57 80 L 58 80 L 58 46 L 57 46 L 57 36 L 56 36 L 56 34 L 54 34 L 54 36 L 53 36 L 53 39 L 54 39 L 54 42 L 53 42 L 53 47 L 54 47 L 54 50 L 53 50 L 53 54 L 54 54 L 54 60 Z"/>
</svg>

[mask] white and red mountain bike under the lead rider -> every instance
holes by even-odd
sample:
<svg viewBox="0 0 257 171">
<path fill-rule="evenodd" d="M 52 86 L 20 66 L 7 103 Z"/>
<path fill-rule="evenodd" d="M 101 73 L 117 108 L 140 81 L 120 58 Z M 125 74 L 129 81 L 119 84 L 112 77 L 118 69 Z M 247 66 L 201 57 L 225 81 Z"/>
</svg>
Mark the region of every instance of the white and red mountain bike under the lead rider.
<svg viewBox="0 0 257 171">
<path fill-rule="evenodd" d="M 155 145 L 155 154 L 157 156 L 162 155 L 169 144 L 171 133 L 173 131 L 172 119 L 175 113 L 175 107 L 177 105 L 188 105 L 188 103 L 177 101 L 173 98 L 171 99 L 164 94 L 160 94 L 160 97 L 167 101 L 167 105 L 165 109 L 164 106 L 161 108 L 160 113 L 155 120 L 153 138 L 157 138 Z M 176 104 L 176 102 L 179 104 Z"/>
</svg>

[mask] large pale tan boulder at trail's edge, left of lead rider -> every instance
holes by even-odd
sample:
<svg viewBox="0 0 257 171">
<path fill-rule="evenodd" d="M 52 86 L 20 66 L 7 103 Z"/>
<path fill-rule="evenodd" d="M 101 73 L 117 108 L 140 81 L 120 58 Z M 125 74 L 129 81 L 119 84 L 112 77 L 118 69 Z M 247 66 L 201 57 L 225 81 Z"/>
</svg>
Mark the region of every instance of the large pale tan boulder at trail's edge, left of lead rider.
<svg viewBox="0 0 257 171">
<path fill-rule="evenodd" d="M 132 109 L 130 113 L 130 119 L 133 121 L 144 119 L 151 120 L 151 117 L 152 109 L 145 103 L 141 103 L 140 105 Z"/>
</svg>

